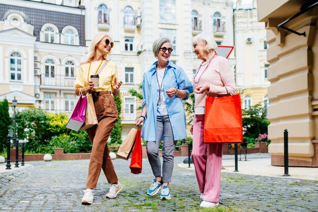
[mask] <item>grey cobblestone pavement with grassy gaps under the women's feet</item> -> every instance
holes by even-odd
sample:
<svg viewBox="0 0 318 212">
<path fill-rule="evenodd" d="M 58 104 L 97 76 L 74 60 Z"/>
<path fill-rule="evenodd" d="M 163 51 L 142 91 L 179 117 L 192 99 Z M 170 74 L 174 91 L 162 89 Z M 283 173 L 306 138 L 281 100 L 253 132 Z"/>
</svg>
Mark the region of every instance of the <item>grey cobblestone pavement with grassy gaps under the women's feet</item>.
<svg viewBox="0 0 318 212">
<path fill-rule="evenodd" d="M 200 211 L 200 193 L 194 170 L 178 167 L 175 158 L 170 184 L 172 199 L 146 195 L 153 178 L 147 160 L 143 172 L 130 173 L 129 162 L 113 161 L 124 188 L 115 199 L 106 199 L 109 185 L 101 174 L 94 203 L 82 205 L 88 160 L 27 162 L 29 167 L 0 173 L 0 211 Z M 219 210 L 202 211 L 318 211 L 318 181 L 238 173 L 221 175 Z"/>
</svg>

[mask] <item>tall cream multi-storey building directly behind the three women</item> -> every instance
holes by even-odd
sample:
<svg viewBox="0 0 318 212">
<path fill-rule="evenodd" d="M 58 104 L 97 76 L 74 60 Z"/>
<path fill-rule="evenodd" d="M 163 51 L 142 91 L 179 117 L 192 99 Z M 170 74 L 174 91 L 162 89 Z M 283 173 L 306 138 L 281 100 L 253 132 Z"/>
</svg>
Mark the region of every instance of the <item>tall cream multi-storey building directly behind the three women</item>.
<svg viewBox="0 0 318 212">
<path fill-rule="evenodd" d="M 118 66 L 118 78 L 124 83 L 122 95 L 122 137 L 134 126 L 141 105 L 128 90 L 138 90 L 144 71 L 155 58 L 152 43 L 159 37 L 172 41 L 170 59 L 192 79 L 200 61 L 192 48 L 192 38 L 205 31 L 214 33 L 219 45 L 233 46 L 232 0 L 84 0 L 87 44 L 98 32 L 114 40 L 111 59 Z M 235 67 L 234 53 L 230 63 Z M 189 131 L 188 131 L 189 133 Z"/>
</svg>

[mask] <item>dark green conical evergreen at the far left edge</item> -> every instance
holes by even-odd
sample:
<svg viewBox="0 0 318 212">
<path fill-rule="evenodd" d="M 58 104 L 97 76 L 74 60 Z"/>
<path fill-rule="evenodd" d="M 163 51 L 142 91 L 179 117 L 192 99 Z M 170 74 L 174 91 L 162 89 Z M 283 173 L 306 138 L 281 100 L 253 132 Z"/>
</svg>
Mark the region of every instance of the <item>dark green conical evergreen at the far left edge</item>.
<svg viewBox="0 0 318 212">
<path fill-rule="evenodd" d="M 9 103 L 7 99 L 4 99 L 0 102 L 0 153 L 6 148 L 10 121 Z"/>
</svg>

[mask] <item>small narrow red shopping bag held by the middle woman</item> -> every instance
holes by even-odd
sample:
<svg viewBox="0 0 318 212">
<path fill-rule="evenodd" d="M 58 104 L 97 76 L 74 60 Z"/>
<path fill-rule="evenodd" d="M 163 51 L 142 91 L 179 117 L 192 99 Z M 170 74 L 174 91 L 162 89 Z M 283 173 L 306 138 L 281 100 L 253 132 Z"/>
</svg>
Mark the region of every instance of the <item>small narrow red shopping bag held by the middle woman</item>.
<svg viewBox="0 0 318 212">
<path fill-rule="evenodd" d="M 133 174 L 140 174 L 142 170 L 141 130 L 137 131 L 130 169 Z"/>
</svg>

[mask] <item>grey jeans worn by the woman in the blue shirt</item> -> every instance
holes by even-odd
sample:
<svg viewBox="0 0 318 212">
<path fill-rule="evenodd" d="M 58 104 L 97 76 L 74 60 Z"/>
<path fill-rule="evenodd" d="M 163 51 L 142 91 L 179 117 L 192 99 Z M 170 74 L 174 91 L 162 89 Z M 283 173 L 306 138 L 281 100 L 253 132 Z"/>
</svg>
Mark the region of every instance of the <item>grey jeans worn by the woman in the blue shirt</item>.
<svg viewBox="0 0 318 212">
<path fill-rule="evenodd" d="M 173 140 L 173 132 L 168 115 L 157 116 L 156 140 L 147 141 L 147 155 L 154 176 L 161 176 L 159 146 L 163 135 L 165 138 L 163 143 L 162 176 L 164 183 L 170 183 L 174 164 L 174 150 L 176 148 L 177 141 Z"/>
</svg>

